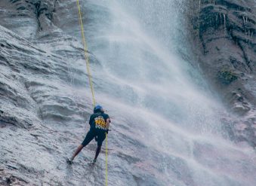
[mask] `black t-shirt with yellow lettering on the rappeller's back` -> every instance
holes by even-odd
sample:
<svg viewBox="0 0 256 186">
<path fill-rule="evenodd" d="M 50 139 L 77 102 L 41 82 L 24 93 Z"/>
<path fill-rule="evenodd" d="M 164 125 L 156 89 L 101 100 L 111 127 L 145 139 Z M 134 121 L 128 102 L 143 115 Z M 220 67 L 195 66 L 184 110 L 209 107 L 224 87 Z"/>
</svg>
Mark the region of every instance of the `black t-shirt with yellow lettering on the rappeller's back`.
<svg viewBox="0 0 256 186">
<path fill-rule="evenodd" d="M 108 114 L 97 112 L 97 113 L 91 114 L 89 124 L 91 125 L 91 127 L 95 127 L 96 129 L 107 130 L 106 128 L 107 118 L 109 118 Z"/>
</svg>

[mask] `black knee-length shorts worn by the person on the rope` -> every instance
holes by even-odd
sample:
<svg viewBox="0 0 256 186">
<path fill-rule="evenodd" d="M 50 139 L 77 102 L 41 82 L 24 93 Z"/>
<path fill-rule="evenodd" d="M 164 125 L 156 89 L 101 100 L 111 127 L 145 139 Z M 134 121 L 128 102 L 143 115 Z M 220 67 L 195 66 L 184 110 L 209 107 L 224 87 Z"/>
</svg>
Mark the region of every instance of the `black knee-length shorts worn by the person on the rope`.
<svg viewBox="0 0 256 186">
<path fill-rule="evenodd" d="M 101 146 L 102 142 L 106 138 L 106 131 L 96 129 L 95 127 L 91 127 L 89 132 L 86 134 L 84 141 L 82 142 L 82 145 L 85 147 L 88 145 L 91 140 L 94 139 L 94 137 L 97 136 L 97 146 Z"/>
</svg>

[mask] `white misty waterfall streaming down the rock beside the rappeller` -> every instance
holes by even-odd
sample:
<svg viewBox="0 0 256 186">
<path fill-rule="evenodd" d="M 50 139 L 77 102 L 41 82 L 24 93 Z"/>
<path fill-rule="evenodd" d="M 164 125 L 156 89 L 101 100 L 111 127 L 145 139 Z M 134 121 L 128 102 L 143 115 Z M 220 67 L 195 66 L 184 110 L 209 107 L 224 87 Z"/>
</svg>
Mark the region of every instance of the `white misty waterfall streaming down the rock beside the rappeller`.
<svg viewBox="0 0 256 186">
<path fill-rule="evenodd" d="M 190 65 L 183 4 L 82 4 L 88 50 L 100 62 L 91 64 L 97 102 L 113 117 L 109 182 L 252 186 L 253 150 L 223 139 L 225 110 Z"/>
</svg>

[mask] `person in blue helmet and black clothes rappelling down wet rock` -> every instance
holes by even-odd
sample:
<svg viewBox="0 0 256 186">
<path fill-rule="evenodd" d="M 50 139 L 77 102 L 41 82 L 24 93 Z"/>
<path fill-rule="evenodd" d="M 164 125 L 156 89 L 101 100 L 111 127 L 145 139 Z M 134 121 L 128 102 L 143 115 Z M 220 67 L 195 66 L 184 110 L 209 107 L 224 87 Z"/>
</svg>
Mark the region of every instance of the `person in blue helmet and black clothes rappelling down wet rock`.
<svg viewBox="0 0 256 186">
<path fill-rule="evenodd" d="M 79 152 L 82 150 L 82 148 L 88 145 L 94 138 L 97 141 L 97 149 L 92 163 L 96 163 L 97 157 L 100 154 L 101 145 L 106 138 L 106 134 L 109 132 L 109 123 L 109 115 L 105 114 L 102 106 L 96 105 L 94 107 L 94 114 L 91 114 L 89 120 L 90 130 L 86 134 L 82 144 L 79 145 L 78 148 L 76 148 L 76 151 L 74 152 L 72 157 L 67 159 L 67 163 L 71 164 L 77 154 L 79 154 Z"/>
</svg>

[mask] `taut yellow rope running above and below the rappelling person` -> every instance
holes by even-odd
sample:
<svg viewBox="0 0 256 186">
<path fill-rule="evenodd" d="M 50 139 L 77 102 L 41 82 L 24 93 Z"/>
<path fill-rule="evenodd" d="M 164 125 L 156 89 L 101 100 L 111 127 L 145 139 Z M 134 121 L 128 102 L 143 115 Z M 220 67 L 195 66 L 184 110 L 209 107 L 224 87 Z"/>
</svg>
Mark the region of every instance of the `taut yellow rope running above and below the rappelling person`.
<svg viewBox="0 0 256 186">
<path fill-rule="evenodd" d="M 90 83 L 90 87 L 91 87 L 91 95 L 92 95 L 92 99 L 93 99 L 93 105 L 95 106 L 96 101 L 95 101 L 95 97 L 94 97 L 94 87 L 93 87 L 92 80 L 91 80 L 90 63 L 89 63 L 89 57 L 88 57 L 88 53 L 87 53 L 87 45 L 85 42 L 85 32 L 84 32 L 84 26 L 82 24 L 82 13 L 81 13 L 80 5 L 79 5 L 79 0 L 76 0 L 76 4 L 77 4 L 77 8 L 79 9 L 79 23 L 81 26 L 81 35 L 82 35 L 82 41 L 84 44 L 86 69 L 88 72 L 88 78 L 89 78 L 89 83 Z M 106 177 L 105 177 L 105 182 L 106 182 L 106 186 L 107 186 L 107 134 L 106 134 Z"/>
</svg>

